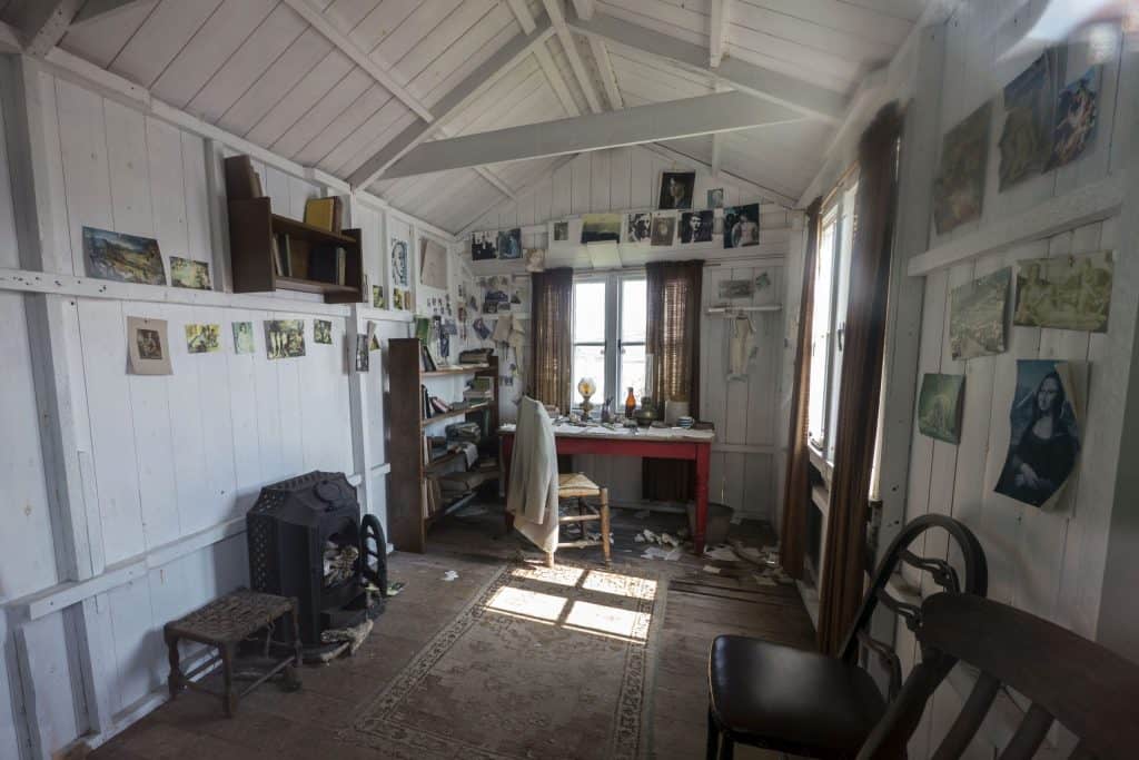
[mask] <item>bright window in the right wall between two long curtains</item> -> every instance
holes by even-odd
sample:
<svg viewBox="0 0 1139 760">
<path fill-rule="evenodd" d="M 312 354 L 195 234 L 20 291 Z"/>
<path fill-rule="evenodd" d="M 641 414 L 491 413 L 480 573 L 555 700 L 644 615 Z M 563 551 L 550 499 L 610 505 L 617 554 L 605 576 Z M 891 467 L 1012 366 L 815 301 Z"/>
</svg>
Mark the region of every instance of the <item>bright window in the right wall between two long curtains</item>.
<svg viewBox="0 0 1139 760">
<path fill-rule="evenodd" d="M 814 267 L 808 440 L 831 463 L 835 460 L 835 423 L 838 419 L 857 196 L 857 179 L 834 193 L 819 222 L 819 251 Z"/>
</svg>

